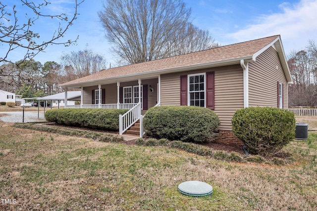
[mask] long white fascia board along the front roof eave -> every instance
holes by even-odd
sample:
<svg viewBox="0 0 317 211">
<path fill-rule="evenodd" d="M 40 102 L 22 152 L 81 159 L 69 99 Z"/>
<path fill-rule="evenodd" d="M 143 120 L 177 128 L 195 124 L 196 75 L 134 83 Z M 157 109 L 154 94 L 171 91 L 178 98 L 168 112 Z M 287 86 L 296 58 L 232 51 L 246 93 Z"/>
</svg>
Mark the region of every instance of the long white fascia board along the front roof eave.
<svg viewBox="0 0 317 211">
<path fill-rule="evenodd" d="M 231 64 L 240 64 L 241 59 L 245 61 L 251 61 L 252 56 L 245 56 L 245 57 L 233 58 L 233 59 L 221 60 L 221 61 L 213 61 L 213 62 L 202 63 L 202 64 L 193 64 L 193 65 L 168 68 L 168 69 L 152 70 L 152 71 L 146 71 L 146 72 L 140 72 L 140 73 L 133 73 L 129 75 L 120 75 L 116 77 L 79 82 L 79 83 L 64 85 L 60 87 L 74 88 L 74 87 L 80 87 L 80 86 L 95 86 L 95 85 L 98 85 L 100 82 L 105 82 L 105 81 L 108 81 L 110 83 L 116 83 L 117 81 L 124 82 L 124 81 L 132 81 L 135 79 L 137 80 L 138 77 L 141 77 L 141 79 L 143 79 L 142 76 L 143 77 L 144 76 L 158 77 L 160 74 L 165 74 L 165 73 L 182 72 L 182 71 L 189 71 L 194 69 L 203 69 L 203 68 L 225 66 L 225 65 L 231 65 Z"/>
</svg>

